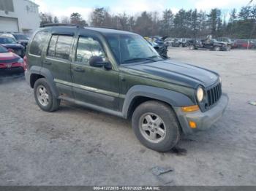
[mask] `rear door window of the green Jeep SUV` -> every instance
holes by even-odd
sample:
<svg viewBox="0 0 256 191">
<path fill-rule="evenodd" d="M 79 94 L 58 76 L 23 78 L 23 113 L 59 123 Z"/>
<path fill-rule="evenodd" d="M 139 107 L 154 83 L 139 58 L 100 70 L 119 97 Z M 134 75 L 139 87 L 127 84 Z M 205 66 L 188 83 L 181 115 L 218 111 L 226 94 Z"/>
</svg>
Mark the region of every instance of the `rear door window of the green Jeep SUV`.
<svg viewBox="0 0 256 191">
<path fill-rule="evenodd" d="M 71 44 L 72 36 L 53 35 L 50 39 L 47 55 L 68 60 Z"/>
</svg>

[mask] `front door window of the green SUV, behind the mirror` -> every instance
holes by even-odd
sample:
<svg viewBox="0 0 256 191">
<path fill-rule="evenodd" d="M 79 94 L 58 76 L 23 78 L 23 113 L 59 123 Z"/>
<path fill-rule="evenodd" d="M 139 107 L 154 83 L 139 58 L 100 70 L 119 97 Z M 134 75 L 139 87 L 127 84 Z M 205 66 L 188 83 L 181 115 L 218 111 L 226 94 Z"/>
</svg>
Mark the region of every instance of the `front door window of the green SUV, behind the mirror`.
<svg viewBox="0 0 256 191">
<path fill-rule="evenodd" d="M 82 37 L 78 39 L 78 47 L 75 61 L 89 65 L 89 60 L 93 56 L 100 56 L 105 61 L 105 52 L 97 39 L 93 37 Z"/>
</svg>

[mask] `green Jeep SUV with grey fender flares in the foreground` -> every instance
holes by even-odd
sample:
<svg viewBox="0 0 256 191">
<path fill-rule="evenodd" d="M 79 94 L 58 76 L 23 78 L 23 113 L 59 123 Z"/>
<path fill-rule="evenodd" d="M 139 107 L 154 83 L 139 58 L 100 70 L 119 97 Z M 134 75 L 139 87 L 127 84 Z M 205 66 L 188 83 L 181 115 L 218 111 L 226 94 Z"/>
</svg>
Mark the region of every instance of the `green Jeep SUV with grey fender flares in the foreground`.
<svg viewBox="0 0 256 191">
<path fill-rule="evenodd" d="M 127 31 L 39 28 L 25 61 L 42 110 L 56 111 L 65 100 L 131 119 L 140 142 L 159 152 L 172 149 L 181 133 L 209 128 L 228 103 L 219 74 L 163 59 Z"/>
</svg>

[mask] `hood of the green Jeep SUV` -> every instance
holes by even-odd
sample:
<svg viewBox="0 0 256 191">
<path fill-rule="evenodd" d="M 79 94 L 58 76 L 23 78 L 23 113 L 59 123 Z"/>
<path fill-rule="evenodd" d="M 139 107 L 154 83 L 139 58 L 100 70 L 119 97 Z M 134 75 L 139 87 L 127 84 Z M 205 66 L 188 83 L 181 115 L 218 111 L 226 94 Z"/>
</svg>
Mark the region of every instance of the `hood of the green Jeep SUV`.
<svg viewBox="0 0 256 191">
<path fill-rule="evenodd" d="M 123 66 L 132 69 L 133 74 L 138 72 L 139 75 L 145 77 L 192 88 L 196 88 L 198 85 L 209 87 L 219 79 L 219 74 L 214 71 L 173 60 L 127 64 Z"/>
</svg>

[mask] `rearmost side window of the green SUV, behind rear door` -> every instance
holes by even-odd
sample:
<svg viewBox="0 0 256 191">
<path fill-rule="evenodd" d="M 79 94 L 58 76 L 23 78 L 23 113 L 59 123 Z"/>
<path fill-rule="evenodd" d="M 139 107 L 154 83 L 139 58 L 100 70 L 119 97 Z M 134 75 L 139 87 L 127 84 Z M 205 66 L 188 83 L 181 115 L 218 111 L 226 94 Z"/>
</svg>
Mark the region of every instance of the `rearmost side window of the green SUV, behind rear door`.
<svg viewBox="0 0 256 191">
<path fill-rule="evenodd" d="M 42 54 L 42 47 L 43 47 L 43 44 L 47 40 L 47 35 L 48 35 L 48 32 L 46 32 L 46 31 L 39 31 L 34 36 L 34 39 L 31 42 L 30 50 L 29 50 L 29 52 L 32 55 L 41 55 Z"/>
</svg>

